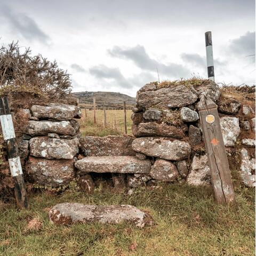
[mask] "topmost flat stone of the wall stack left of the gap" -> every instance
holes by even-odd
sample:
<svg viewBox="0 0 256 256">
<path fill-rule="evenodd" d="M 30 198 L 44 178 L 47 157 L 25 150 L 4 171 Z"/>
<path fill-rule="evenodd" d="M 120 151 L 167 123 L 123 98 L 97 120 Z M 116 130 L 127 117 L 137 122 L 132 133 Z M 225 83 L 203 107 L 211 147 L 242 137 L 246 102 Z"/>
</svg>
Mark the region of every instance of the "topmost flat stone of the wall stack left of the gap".
<svg viewBox="0 0 256 256">
<path fill-rule="evenodd" d="M 49 118 L 58 121 L 81 118 L 81 109 L 67 104 L 50 103 L 48 106 L 34 105 L 31 107 L 32 115 L 38 118 Z"/>
</svg>

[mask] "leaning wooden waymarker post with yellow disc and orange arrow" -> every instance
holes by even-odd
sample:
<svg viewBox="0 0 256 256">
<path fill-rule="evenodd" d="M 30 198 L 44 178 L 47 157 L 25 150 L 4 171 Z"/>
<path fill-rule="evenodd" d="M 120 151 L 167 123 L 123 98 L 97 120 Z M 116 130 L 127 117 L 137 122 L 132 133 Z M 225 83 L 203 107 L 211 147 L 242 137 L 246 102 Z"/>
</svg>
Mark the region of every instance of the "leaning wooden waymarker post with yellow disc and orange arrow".
<svg viewBox="0 0 256 256">
<path fill-rule="evenodd" d="M 217 105 L 202 95 L 198 103 L 204 143 L 211 170 L 212 185 L 218 204 L 235 204 L 235 193 L 222 138 Z"/>
</svg>

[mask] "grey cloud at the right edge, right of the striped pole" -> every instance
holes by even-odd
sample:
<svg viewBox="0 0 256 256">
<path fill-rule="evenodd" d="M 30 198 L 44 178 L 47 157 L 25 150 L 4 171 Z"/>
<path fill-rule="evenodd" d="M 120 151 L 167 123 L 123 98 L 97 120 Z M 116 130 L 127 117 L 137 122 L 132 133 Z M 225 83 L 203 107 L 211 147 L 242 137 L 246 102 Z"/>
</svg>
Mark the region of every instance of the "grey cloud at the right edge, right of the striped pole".
<svg viewBox="0 0 256 256">
<path fill-rule="evenodd" d="M 237 55 L 255 54 L 255 31 L 247 31 L 245 35 L 230 41 L 229 50 Z"/>
</svg>

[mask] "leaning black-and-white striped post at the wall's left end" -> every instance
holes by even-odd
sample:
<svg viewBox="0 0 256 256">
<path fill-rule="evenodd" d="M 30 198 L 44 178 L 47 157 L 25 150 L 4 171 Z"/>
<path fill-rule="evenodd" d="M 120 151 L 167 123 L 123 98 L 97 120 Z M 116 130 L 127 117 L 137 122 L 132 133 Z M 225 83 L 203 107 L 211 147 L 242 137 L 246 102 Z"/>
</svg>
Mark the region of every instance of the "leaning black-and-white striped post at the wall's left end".
<svg viewBox="0 0 256 256">
<path fill-rule="evenodd" d="M 11 175 L 14 180 L 14 195 L 19 208 L 28 207 L 28 198 L 23 179 L 18 147 L 15 140 L 15 132 L 7 97 L 0 99 L 0 121 L 3 137 L 6 141 L 7 157 Z"/>
</svg>

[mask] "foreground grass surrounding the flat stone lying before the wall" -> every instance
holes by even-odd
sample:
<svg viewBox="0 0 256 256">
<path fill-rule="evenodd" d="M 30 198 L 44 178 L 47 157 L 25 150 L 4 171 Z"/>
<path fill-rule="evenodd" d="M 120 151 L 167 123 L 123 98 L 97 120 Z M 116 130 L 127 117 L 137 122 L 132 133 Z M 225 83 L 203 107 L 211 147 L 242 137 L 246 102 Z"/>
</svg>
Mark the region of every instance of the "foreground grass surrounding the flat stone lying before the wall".
<svg viewBox="0 0 256 256">
<path fill-rule="evenodd" d="M 14 202 L 0 211 L 0 255 L 254 255 L 254 189 L 236 190 L 237 205 L 215 204 L 210 188 L 164 185 L 124 193 L 95 191 L 87 195 L 67 190 L 30 196 L 29 210 Z M 55 226 L 47 211 L 62 202 L 131 204 L 153 215 L 144 229 L 129 223 Z M 31 228 L 31 220 L 39 225 Z"/>
</svg>

